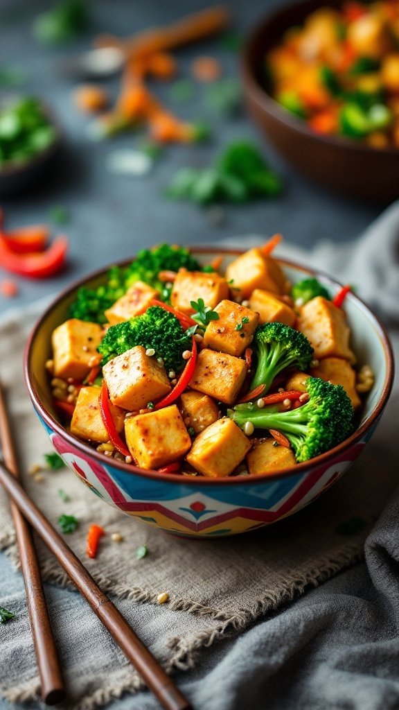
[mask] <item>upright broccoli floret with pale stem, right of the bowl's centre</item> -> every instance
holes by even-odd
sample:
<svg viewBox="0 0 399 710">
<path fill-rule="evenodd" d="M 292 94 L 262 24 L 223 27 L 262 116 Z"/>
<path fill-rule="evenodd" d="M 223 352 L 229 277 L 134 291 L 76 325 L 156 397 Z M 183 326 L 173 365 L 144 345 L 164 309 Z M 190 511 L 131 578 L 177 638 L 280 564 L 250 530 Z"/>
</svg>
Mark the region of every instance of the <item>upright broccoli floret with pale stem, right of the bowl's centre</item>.
<svg viewBox="0 0 399 710">
<path fill-rule="evenodd" d="M 253 347 L 257 364 L 251 390 L 264 385 L 263 394 L 281 371 L 288 367 L 306 371 L 312 362 L 313 348 L 307 337 L 283 323 L 260 325 L 255 331 Z"/>
</svg>

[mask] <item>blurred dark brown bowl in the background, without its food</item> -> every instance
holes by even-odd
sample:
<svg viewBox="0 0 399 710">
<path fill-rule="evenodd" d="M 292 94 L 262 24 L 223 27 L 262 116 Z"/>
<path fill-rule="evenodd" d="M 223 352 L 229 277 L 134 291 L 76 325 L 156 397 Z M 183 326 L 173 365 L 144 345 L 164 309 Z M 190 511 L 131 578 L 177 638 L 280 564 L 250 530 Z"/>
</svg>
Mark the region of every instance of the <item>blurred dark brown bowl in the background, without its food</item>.
<svg viewBox="0 0 399 710">
<path fill-rule="evenodd" d="M 340 5 L 334 0 L 323 2 L 323 6 Z M 280 6 L 258 22 L 242 57 L 248 111 L 281 155 L 312 180 L 351 197 L 392 202 L 399 197 L 398 149 L 371 148 L 350 138 L 320 136 L 267 92 L 263 74 L 266 53 L 279 43 L 285 30 L 301 25 L 319 7 L 318 0 L 302 0 Z"/>
</svg>

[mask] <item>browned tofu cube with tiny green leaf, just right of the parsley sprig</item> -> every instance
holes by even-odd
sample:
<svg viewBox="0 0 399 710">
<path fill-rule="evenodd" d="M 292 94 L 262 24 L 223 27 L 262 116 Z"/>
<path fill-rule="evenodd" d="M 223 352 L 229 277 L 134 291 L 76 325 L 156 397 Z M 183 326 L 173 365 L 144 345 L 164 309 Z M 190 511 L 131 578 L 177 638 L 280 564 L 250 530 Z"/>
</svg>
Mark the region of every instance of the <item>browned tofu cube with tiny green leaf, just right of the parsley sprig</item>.
<svg viewBox="0 0 399 710">
<path fill-rule="evenodd" d="M 214 310 L 219 320 L 212 320 L 207 325 L 205 345 L 212 350 L 240 357 L 253 339 L 258 313 L 228 300 L 222 300 Z"/>
</svg>

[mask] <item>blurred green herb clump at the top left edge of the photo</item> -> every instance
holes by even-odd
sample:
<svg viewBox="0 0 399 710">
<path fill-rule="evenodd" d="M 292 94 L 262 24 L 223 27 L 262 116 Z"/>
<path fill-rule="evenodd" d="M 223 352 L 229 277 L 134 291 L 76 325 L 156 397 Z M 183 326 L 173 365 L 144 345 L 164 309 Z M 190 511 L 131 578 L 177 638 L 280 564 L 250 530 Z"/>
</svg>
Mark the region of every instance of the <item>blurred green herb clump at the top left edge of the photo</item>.
<svg viewBox="0 0 399 710">
<path fill-rule="evenodd" d="M 60 45 L 82 33 L 87 23 L 84 0 L 63 0 L 35 19 L 33 33 L 43 44 Z"/>
</svg>

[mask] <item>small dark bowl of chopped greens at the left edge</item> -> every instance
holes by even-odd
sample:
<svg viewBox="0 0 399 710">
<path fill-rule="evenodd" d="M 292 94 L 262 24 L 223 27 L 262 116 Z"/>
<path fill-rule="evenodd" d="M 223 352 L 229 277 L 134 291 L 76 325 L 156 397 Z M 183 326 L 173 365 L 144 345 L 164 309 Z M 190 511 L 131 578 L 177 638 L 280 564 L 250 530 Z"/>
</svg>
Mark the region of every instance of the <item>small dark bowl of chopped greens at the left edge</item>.
<svg viewBox="0 0 399 710">
<path fill-rule="evenodd" d="M 60 130 L 38 99 L 0 102 L 0 195 L 38 184 L 60 148 Z"/>
</svg>

